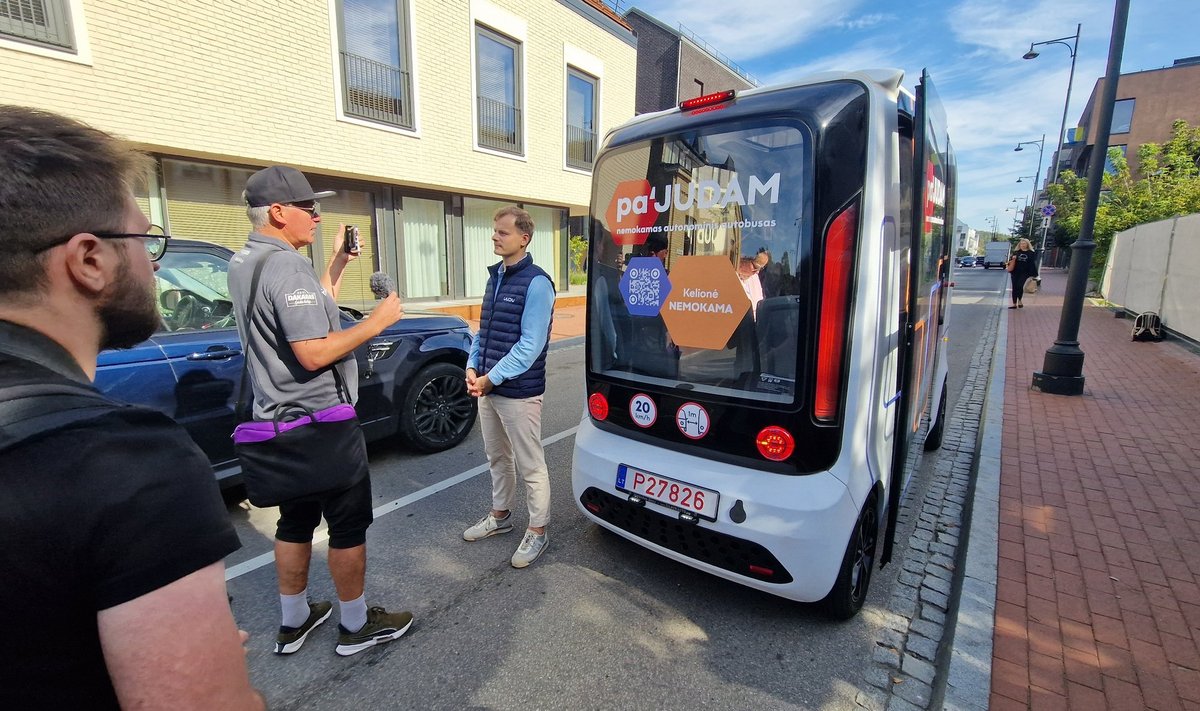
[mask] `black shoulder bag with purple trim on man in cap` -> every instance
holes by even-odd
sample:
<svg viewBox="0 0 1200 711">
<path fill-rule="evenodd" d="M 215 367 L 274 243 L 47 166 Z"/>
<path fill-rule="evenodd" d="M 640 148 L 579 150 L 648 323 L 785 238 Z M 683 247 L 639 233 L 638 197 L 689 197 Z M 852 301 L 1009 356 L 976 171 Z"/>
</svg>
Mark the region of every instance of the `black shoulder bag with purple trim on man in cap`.
<svg viewBox="0 0 1200 711">
<path fill-rule="evenodd" d="M 245 327 L 250 328 L 258 281 L 270 255 L 254 265 L 246 304 Z M 257 348 L 246 339 L 250 349 Z M 334 365 L 337 399 L 341 404 L 313 411 L 300 402 L 282 402 L 270 422 L 242 422 L 233 431 L 233 448 L 241 462 L 246 497 L 257 507 L 278 506 L 326 491 L 341 491 L 368 474 L 367 443 L 349 402 L 341 368 Z M 250 359 L 242 364 L 238 394 L 238 419 L 245 418 Z M 343 394 L 344 393 L 344 394 Z"/>
</svg>

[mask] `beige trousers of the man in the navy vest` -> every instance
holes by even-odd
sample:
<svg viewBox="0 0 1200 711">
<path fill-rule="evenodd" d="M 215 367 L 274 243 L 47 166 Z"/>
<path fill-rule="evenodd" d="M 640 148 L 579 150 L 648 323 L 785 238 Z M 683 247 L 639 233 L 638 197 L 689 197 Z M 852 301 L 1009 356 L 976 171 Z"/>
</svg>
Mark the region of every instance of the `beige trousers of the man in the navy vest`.
<svg viewBox="0 0 1200 711">
<path fill-rule="evenodd" d="M 484 395 L 479 399 L 479 426 L 492 471 L 492 508 L 512 510 L 520 473 L 529 526 L 545 526 L 550 521 L 550 472 L 541 448 L 541 395 L 521 400 Z"/>
</svg>

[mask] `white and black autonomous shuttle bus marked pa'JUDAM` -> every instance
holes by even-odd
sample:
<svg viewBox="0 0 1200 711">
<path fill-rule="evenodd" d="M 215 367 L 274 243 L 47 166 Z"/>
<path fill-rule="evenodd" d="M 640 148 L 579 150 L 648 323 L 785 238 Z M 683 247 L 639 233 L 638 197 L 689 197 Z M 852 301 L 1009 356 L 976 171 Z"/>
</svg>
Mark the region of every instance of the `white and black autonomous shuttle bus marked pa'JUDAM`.
<svg viewBox="0 0 1200 711">
<path fill-rule="evenodd" d="M 584 515 L 835 617 L 941 444 L 955 165 L 928 74 L 637 116 L 596 160 Z"/>
</svg>

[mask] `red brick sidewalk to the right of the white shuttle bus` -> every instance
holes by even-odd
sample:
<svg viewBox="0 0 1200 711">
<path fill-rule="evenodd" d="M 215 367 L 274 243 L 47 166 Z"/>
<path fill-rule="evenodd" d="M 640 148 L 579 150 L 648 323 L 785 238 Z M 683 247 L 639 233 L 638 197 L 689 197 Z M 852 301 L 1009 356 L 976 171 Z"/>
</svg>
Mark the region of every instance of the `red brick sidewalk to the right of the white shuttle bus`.
<svg viewBox="0 0 1200 711">
<path fill-rule="evenodd" d="M 990 707 L 1200 709 L 1200 357 L 1088 304 L 1084 394 L 1031 390 L 1066 281 L 1004 312 Z"/>
</svg>

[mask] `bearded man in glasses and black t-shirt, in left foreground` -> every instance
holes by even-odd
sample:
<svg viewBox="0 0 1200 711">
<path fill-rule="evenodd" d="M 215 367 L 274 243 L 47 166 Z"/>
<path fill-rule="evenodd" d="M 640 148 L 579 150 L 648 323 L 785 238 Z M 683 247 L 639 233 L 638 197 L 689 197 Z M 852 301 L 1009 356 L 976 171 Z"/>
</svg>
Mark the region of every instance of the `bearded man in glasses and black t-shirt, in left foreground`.
<svg viewBox="0 0 1200 711">
<path fill-rule="evenodd" d="M 130 190 L 145 168 L 102 131 L 0 106 L 0 392 L 96 402 L 40 432 L 0 426 L 0 709 L 263 707 L 226 597 L 240 543 L 206 458 L 91 384 L 101 349 L 158 324 L 167 240 Z"/>
</svg>

